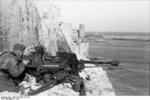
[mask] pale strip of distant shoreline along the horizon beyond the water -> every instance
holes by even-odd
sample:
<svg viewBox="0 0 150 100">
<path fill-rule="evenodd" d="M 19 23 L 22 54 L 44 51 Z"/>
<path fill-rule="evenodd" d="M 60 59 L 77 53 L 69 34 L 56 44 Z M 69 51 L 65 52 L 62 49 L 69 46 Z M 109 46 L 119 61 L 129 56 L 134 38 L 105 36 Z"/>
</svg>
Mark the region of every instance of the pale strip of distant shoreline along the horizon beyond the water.
<svg viewBox="0 0 150 100">
<path fill-rule="evenodd" d="M 150 33 L 128 33 L 128 32 L 87 32 L 85 37 L 93 39 L 113 39 L 113 40 L 130 40 L 130 41 L 150 41 Z"/>
</svg>

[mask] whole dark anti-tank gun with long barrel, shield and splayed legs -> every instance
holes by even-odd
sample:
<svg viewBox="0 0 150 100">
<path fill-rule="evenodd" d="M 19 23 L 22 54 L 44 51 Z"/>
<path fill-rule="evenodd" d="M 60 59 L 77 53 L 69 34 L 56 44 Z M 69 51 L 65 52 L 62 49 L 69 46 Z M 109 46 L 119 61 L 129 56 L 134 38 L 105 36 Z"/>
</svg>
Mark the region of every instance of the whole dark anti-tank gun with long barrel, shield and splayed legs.
<svg viewBox="0 0 150 100">
<path fill-rule="evenodd" d="M 73 90 L 85 95 L 84 80 L 79 71 L 85 68 L 84 64 L 111 64 L 117 66 L 116 61 L 78 60 L 74 53 L 58 52 L 57 56 L 48 56 L 45 53 L 35 52 L 24 59 L 31 61 L 25 72 L 36 77 L 36 81 L 44 83 L 29 95 L 36 95 L 60 83 L 70 83 Z"/>
</svg>

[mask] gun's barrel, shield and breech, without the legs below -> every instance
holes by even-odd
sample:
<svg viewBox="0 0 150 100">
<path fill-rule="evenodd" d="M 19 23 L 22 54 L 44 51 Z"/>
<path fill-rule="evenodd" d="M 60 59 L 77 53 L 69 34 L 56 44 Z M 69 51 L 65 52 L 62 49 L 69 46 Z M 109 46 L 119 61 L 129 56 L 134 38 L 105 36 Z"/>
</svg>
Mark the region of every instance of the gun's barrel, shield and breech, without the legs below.
<svg viewBox="0 0 150 100">
<path fill-rule="evenodd" d="M 118 61 L 113 60 L 78 60 L 76 54 L 57 52 L 57 56 L 46 55 L 34 55 L 27 57 L 32 64 L 29 68 L 36 69 L 38 73 L 55 73 L 59 70 L 69 70 L 69 73 L 78 76 L 78 72 L 86 68 L 85 64 L 110 64 L 112 66 L 118 66 Z M 90 67 L 93 68 L 93 67 Z"/>
</svg>

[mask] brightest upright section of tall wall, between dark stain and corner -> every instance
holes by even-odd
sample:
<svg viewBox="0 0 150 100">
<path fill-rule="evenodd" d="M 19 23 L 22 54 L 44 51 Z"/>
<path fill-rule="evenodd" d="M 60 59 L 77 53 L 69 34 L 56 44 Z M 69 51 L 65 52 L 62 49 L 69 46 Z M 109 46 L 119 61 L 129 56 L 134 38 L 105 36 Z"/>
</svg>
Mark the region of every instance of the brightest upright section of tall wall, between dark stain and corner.
<svg viewBox="0 0 150 100">
<path fill-rule="evenodd" d="M 39 41 L 50 55 L 55 56 L 57 49 L 58 19 L 60 8 L 48 0 L 38 0 L 36 7 L 40 16 Z"/>
</svg>

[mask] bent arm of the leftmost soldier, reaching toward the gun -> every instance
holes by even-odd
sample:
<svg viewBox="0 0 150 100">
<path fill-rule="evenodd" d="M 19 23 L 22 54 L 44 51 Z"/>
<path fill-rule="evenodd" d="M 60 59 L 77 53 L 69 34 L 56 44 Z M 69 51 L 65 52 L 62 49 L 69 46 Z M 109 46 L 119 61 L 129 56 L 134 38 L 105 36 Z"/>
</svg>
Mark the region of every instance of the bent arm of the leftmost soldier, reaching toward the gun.
<svg viewBox="0 0 150 100">
<path fill-rule="evenodd" d="M 17 60 L 10 59 L 10 61 L 7 63 L 7 70 L 11 76 L 17 77 L 23 73 L 25 66 L 26 65 L 22 62 L 18 63 Z"/>
</svg>

